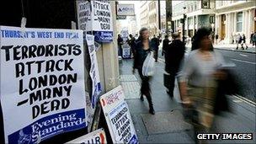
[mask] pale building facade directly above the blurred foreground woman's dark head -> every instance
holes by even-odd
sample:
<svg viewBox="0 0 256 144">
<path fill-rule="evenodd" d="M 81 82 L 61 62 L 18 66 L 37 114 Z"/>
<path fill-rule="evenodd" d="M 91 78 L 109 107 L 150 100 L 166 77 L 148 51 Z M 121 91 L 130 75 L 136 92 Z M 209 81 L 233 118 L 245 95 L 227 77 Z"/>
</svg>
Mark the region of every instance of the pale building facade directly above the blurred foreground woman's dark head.
<svg viewBox="0 0 256 144">
<path fill-rule="evenodd" d="M 214 21 L 211 18 L 215 17 L 215 1 L 183 1 L 178 4 L 173 4 L 173 22 L 174 32 L 182 32 L 182 19 L 185 14 L 184 35 L 192 37 L 195 35 L 196 29 L 201 27 L 210 27 L 214 29 Z"/>
</svg>

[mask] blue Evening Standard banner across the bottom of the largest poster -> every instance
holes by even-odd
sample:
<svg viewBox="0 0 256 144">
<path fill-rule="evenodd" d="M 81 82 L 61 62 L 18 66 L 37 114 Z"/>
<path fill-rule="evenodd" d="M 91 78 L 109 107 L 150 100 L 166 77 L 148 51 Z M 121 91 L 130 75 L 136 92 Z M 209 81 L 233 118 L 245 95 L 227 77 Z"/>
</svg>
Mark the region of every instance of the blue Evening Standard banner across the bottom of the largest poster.
<svg viewBox="0 0 256 144">
<path fill-rule="evenodd" d="M 79 109 L 80 110 L 80 109 Z M 77 112 L 77 110 L 75 110 Z M 81 112 L 83 109 L 80 110 Z M 24 127 L 8 136 L 8 143 L 12 144 L 34 144 L 40 143 L 51 136 L 64 131 L 76 130 L 86 126 L 85 117 L 79 113 L 61 113 L 50 115 L 35 123 Z"/>
</svg>

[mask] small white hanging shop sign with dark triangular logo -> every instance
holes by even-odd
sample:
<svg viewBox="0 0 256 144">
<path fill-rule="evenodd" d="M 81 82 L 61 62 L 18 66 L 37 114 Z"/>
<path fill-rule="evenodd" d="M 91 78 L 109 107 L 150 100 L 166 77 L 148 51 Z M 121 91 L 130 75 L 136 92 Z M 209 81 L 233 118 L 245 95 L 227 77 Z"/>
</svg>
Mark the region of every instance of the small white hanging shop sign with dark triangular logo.
<svg viewBox="0 0 256 144">
<path fill-rule="evenodd" d="M 117 4 L 117 15 L 134 16 L 134 4 Z"/>
</svg>

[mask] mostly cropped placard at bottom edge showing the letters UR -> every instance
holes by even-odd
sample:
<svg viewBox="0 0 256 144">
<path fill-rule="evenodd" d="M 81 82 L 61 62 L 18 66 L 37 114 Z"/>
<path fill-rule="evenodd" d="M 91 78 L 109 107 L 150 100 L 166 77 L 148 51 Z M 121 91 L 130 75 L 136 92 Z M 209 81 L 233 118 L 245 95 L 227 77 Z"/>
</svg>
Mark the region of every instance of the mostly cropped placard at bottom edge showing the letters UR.
<svg viewBox="0 0 256 144">
<path fill-rule="evenodd" d="M 78 137 L 75 140 L 68 141 L 66 144 L 85 144 L 85 143 L 97 143 L 97 144 L 106 144 L 107 139 L 104 129 L 99 129 L 93 132 L 88 133 L 87 135 Z"/>
</svg>

